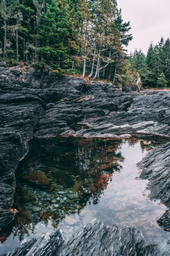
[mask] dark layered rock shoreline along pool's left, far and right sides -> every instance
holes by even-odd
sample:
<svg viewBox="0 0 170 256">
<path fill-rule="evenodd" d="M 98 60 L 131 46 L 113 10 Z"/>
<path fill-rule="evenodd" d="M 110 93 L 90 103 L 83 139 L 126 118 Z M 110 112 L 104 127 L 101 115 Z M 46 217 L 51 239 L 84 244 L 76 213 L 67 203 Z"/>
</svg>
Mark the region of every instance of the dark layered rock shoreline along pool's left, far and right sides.
<svg viewBox="0 0 170 256">
<path fill-rule="evenodd" d="M 111 84 L 89 83 L 71 76 L 55 77 L 34 68 L 8 68 L 0 63 L 0 124 L 0 228 L 3 228 L 14 217 L 8 208 L 13 203 L 15 170 L 29 151 L 30 139 L 60 135 L 118 137 L 134 133 L 170 138 L 170 91 L 125 93 Z M 75 129 L 75 124 L 82 129 Z M 170 206 L 169 150 L 170 143 L 164 144 L 140 163 L 141 178 L 150 180 L 151 199 L 161 199 L 167 207 Z M 167 211 L 160 219 L 165 229 L 169 228 L 169 217 Z"/>
</svg>

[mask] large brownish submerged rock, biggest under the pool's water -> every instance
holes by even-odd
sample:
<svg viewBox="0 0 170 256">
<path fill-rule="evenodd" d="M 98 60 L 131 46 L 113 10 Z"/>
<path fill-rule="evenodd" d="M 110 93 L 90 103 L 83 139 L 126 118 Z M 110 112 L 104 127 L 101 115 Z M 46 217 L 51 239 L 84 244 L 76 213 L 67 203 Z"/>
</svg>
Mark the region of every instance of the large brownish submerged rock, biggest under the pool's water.
<svg viewBox="0 0 170 256">
<path fill-rule="evenodd" d="M 49 186 L 49 179 L 43 171 L 28 172 L 24 174 L 22 178 L 41 188 L 47 188 Z"/>
</svg>

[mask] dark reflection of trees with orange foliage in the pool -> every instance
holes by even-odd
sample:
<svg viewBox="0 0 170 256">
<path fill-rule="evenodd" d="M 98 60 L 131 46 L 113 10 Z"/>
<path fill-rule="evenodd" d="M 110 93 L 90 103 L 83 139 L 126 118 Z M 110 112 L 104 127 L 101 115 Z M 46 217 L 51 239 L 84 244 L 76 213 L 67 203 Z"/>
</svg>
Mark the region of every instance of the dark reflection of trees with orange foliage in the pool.
<svg viewBox="0 0 170 256">
<path fill-rule="evenodd" d="M 51 168 L 53 178 L 60 185 L 73 187 L 74 193 L 80 196 L 80 203 L 86 205 L 93 199 L 96 204 L 112 180 L 114 171 L 121 169 L 124 160 L 119 151 L 121 143 L 122 139 L 46 140 L 45 143 L 34 144 L 26 162 L 28 166 L 41 163 L 39 168 L 43 171 Z M 75 180 L 72 175 L 79 177 Z"/>
</svg>

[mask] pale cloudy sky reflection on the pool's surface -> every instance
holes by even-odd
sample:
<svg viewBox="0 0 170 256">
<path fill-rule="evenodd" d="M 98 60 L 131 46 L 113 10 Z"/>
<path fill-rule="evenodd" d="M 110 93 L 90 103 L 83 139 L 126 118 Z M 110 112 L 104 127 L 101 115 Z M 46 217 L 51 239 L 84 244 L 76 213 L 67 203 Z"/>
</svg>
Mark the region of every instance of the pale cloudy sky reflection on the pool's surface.
<svg viewBox="0 0 170 256">
<path fill-rule="evenodd" d="M 106 149 L 108 149 L 107 145 Z M 78 170 L 88 168 L 90 151 L 87 150 L 86 152 L 83 152 L 83 149 L 82 152 L 77 151 L 79 152 Z M 117 223 L 133 226 L 142 232 L 146 243 L 155 243 L 169 238 L 169 233 L 164 232 L 156 222 L 164 214 L 166 207 L 160 205 L 158 201 L 151 202 L 147 198 L 149 194 L 149 191 L 146 190 L 147 180 L 135 179 L 139 176 L 136 164 L 146 155 L 146 149 L 141 148 L 140 141 L 129 146 L 128 140 L 126 140 L 118 145 L 117 152 L 119 151 L 124 157 L 124 161 L 120 163 L 122 169 L 112 174 L 113 177 L 111 180 L 109 179 L 107 189 L 100 194 L 99 203 L 94 205 L 91 199 L 80 214 L 72 214 L 62 220 L 60 229 L 64 239 L 68 239 L 81 225 L 87 224 L 94 217 L 106 225 Z M 86 161 L 83 160 L 85 153 L 87 154 Z M 97 157 L 96 161 L 99 161 Z M 98 168 L 99 166 L 97 165 Z M 28 234 L 25 234 L 23 238 L 40 238 L 42 234 L 54 229 L 51 224 L 51 220 L 48 221 L 48 225 L 41 221 L 33 227 L 33 231 L 32 224 L 29 224 L 25 226 L 28 229 Z M 0 253 L 12 251 L 20 243 L 19 237 L 14 237 L 11 233 L 5 243 L 0 245 Z"/>
</svg>

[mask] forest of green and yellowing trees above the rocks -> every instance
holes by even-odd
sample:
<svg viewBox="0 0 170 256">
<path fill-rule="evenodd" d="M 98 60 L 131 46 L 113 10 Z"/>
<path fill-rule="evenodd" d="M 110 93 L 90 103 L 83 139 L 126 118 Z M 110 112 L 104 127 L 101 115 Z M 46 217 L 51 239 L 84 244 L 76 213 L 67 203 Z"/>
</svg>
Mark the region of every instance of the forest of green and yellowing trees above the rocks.
<svg viewBox="0 0 170 256">
<path fill-rule="evenodd" d="M 127 54 L 132 40 L 116 0 L 1 0 L 0 58 L 115 85 L 170 86 L 170 40 Z"/>
</svg>

